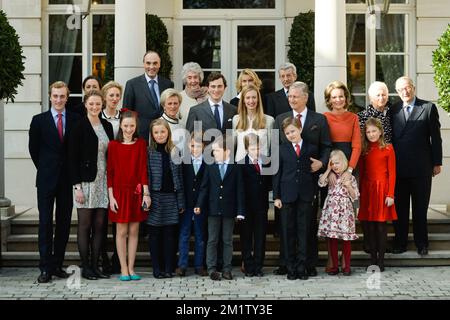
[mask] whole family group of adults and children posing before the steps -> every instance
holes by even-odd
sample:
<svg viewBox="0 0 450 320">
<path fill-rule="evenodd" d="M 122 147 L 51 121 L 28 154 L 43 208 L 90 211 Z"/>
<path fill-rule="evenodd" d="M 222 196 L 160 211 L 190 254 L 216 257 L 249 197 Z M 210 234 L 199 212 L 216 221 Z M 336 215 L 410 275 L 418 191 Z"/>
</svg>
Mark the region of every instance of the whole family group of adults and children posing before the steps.
<svg viewBox="0 0 450 320">
<path fill-rule="evenodd" d="M 144 74 L 127 81 L 124 91 L 116 82 L 102 87 L 86 78 L 83 103 L 76 106 L 66 107 L 69 89 L 55 82 L 50 110 L 33 117 L 38 282 L 69 276 L 62 264 L 73 206 L 86 279 L 114 271 L 121 281 L 141 278 L 134 264 L 142 222 L 157 279 L 186 275 L 192 227 L 195 273 L 232 279 L 236 222 L 242 271 L 263 276 L 270 191 L 280 236 L 274 272 L 289 280 L 317 275 L 318 237 L 327 239 L 330 275 L 339 273 L 342 240 L 341 268 L 350 275 L 356 219 L 371 264 L 383 271 L 386 221 L 395 227 L 393 253 L 405 252 L 411 199 L 414 241 L 419 254 L 428 253 L 426 216 L 442 140 L 436 106 L 416 97 L 409 77 L 396 81 L 401 101 L 394 105 L 387 86 L 374 82 L 371 104 L 358 115 L 347 110 L 345 84 L 333 81 L 324 91 L 330 111 L 321 114 L 291 63 L 278 69 L 283 88 L 266 96 L 258 75 L 242 70 L 231 103 L 223 100 L 227 81 L 221 73 L 203 79 L 200 65 L 188 62 L 178 92 L 158 75 L 158 53 L 146 52 L 143 63 Z M 107 252 L 108 220 L 112 266 L 120 270 Z"/>
</svg>

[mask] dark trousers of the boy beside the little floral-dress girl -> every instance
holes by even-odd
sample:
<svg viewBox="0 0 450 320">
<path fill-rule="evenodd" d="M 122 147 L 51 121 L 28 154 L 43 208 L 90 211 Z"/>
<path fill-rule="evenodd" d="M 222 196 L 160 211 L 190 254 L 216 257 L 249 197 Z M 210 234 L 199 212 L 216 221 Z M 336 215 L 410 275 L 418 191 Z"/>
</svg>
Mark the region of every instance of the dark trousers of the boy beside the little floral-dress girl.
<svg viewBox="0 0 450 320">
<path fill-rule="evenodd" d="M 298 199 L 292 203 L 283 203 L 281 208 L 280 241 L 286 253 L 289 273 L 305 272 L 312 209 L 311 202 Z"/>
</svg>

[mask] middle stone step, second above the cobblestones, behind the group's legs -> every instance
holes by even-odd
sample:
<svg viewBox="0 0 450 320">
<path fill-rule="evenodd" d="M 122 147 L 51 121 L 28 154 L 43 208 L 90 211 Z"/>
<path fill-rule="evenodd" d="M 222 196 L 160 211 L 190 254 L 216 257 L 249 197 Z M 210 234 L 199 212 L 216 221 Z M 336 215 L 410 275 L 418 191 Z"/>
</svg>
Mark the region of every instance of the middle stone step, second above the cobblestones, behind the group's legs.
<svg viewBox="0 0 450 320">
<path fill-rule="evenodd" d="M 353 250 L 363 249 L 362 234 L 359 234 L 359 239 L 352 241 Z M 388 234 L 388 244 L 392 242 L 394 234 Z M 20 251 L 39 251 L 38 236 L 37 234 L 22 234 L 22 235 L 10 235 L 6 243 L 7 252 L 20 252 Z M 114 243 L 112 241 L 112 235 L 108 236 L 108 251 L 112 252 Z M 148 240 L 144 237 L 140 238 L 138 244 L 138 251 L 148 251 Z M 191 237 L 190 250 L 194 248 L 194 239 Z M 240 236 L 235 234 L 233 236 L 233 248 L 236 251 L 241 250 Z M 266 237 L 266 251 L 277 251 L 279 249 L 279 238 L 275 238 L 272 235 Z M 430 250 L 449 250 L 450 249 L 450 234 L 448 233 L 431 233 L 429 234 L 429 249 Z M 319 250 L 327 250 L 326 240 L 319 240 Z M 415 250 L 415 244 L 413 235 L 408 236 L 408 250 Z M 77 236 L 71 234 L 67 243 L 67 252 L 78 252 Z"/>
</svg>

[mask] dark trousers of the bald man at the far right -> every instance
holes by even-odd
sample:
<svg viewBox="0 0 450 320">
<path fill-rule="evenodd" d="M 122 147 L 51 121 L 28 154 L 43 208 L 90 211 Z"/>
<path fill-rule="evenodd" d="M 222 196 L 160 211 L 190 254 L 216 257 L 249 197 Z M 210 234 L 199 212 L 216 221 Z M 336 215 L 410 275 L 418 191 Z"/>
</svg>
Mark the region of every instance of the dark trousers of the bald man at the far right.
<svg viewBox="0 0 450 320">
<path fill-rule="evenodd" d="M 409 205 L 412 202 L 414 243 L 422 249 L 428 247 L 427 212 L 431 194 L 431 176 L 415 178 L 397 177 L 395 185 L 395 209 L 398 220 L 393 221 L 394 245 L 406 249 L 408 245 Z"/>
</svg>

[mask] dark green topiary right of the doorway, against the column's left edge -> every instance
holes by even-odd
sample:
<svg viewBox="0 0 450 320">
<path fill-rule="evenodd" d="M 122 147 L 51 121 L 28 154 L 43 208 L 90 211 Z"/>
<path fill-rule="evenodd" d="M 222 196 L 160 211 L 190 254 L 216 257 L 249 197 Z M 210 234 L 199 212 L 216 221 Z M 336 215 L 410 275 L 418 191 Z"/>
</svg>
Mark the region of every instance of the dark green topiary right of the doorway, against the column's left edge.
<svg viewBox="0 0 450 320">
<path fill-rule="evenodd" d="M 314 92 L 314 12 L 299 13 L 294 18 L 288 58 L 297 67 L 298 79 Z"/>
</svg>

